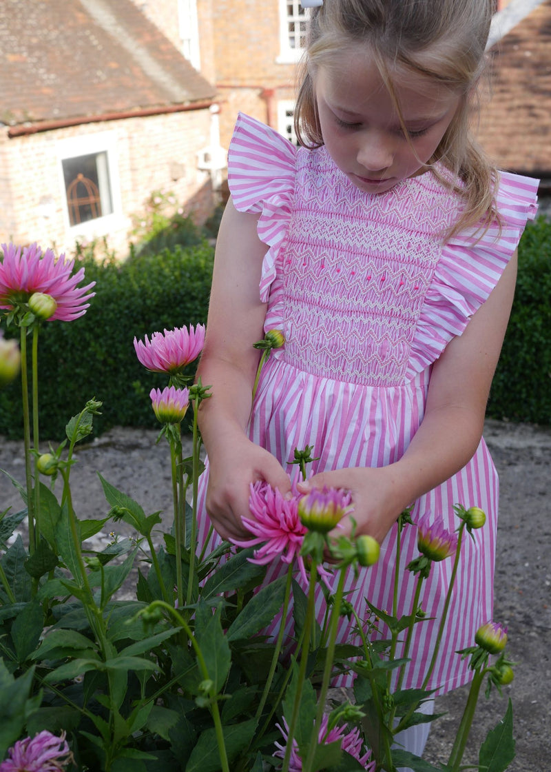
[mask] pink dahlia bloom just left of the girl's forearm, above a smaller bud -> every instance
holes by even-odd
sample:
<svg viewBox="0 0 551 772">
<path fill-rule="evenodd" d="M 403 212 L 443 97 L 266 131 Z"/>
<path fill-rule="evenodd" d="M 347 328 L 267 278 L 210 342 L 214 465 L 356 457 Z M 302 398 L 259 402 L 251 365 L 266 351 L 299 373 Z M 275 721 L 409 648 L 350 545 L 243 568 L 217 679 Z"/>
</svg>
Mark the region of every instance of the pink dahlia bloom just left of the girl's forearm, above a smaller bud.
<svg viewBox="0 0 551 772">
<path fill-rule="evenodd" d="M 179 373 L 186 364 L 197 359 L 205 344 L 205 325 L 191 324 L 188 327 L 177 327 L 174 330 L 164 330 L 164 333 L 154 333 L 151 340 L 134 338 L 136 356 L 147 370 L 155 373 Z"/>
</svg>

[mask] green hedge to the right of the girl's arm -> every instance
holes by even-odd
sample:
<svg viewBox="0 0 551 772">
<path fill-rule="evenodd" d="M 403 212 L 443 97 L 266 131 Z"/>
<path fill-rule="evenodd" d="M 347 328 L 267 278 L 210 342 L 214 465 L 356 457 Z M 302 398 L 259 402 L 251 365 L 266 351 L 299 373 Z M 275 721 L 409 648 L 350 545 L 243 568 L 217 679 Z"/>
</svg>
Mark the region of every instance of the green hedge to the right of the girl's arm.
<svg viewBox="0 0 551 772">
<path fill-rule="evenodd" d="M 551 222 L 530 223 L 519 245 L 511 320 L 488 416 L 551 424 Z"/>
</svg>

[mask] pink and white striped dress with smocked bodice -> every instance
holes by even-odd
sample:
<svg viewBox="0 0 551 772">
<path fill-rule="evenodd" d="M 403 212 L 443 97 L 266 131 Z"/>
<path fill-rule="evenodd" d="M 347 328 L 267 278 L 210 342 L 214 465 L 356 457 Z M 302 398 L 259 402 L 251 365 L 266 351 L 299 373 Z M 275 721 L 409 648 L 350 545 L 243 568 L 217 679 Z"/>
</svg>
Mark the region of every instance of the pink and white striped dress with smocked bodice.
<svg viewBox="0 0 551 772">
<path fill-rule="evenodd" d="M 537 181 L 501 174 L 497 226 L 481 240 L 461 232 L 444 247 L 441 234 L 458 215 L 458 199 L 430 172 L 370 195 L 336 168 L 325 147 L 309 151 L 240 115 L 230 146 L 229 185 L 235 206 L 260 215 L 269 245 L 260 296 L 265 330 L 282 330 L 285 347 L 272 351 L 255 398 L 250 437 L 283 466 L 295 448 L 313 445 L 312 472 L 384 466 L 407 449 L 424 414 L 431 364 L 501 276 L 528 218 L 536 213 Z M 296 476 L 296 466 L 288 470 Z M 200 538 L 208 516 L 201 478 Z M 492 618 L 498 479 L 485 442 L 447 482 L 414 506 L 455 530 L 452 506 L 480 506 L 484 528 L 464 540 L 448 624 L 429 688 L 443 693 L 469 679 L 455 654 L 474 642 Z M 364 598 L 392 608 L 396 527 L 378 564 L 347 577 L 346 598 L 360 618 Z M 417 557 L 417 529 L 403 534 L 402 565 Z M 441 616 L 453 561 L 433 564 L 422 606 Z M 270 581 L 286 564 L 269 567 Z M 335 579 L 336 584 L 336 579 Z M 415 577 L 404 571 L 399 615 L 411 611 Z M 319 598 L 320 621 L 323 599 Z M 346 620 L 345 620 L 346 623 Z M 340 639 L 350 640 L 346 624 Z M 292 624 L 289 619 L 286 623 Z M 437 623 L 416 625 L 404 688 L 421 686 Z M 400 652 L 397 652 L 398 655 Z"/>
</svg>

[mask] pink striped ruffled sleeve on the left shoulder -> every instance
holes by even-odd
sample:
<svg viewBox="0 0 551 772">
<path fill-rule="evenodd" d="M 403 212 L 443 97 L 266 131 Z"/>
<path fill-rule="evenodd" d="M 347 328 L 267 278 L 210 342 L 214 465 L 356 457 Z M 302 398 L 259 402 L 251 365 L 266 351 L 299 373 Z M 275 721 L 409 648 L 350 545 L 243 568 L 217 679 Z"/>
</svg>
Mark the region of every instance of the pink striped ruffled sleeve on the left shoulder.
<svg viewBox="0 0 551 772">
<path fill-rule="evenodd" d="M 228 151 L 228 185 L 239 212 L 260 214 L 259 239 L 269 245 L 259 286 L 263 303 L 268 300 L 275 259 L 289 228 L 295 168 L 296 147 L 289 140 L 239 113 Z"/>
</svg>

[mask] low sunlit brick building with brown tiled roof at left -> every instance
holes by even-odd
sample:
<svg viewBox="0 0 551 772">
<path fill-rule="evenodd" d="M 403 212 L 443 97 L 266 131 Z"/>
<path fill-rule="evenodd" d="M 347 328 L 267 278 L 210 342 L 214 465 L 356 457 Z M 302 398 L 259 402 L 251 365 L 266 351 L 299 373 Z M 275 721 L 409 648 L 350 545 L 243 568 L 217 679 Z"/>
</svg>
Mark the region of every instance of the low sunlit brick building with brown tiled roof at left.
<svg viewBox="0 0 551 772">
<path fill-rule="evenodd" d="M 215 87 L 131 0 L 5 0 L 0 52 L 0 242 L 124 255 L 156 190 L 211 213 Z"/>
</svg>

